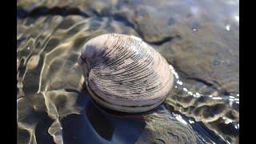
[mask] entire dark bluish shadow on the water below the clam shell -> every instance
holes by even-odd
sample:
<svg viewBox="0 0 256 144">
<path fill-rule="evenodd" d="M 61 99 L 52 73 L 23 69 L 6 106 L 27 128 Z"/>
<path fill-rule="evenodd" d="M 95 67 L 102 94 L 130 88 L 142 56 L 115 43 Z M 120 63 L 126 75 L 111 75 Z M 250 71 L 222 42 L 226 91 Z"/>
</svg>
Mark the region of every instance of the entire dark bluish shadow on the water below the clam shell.
<svg viewBox="0 0 256 144">
<path fill-rule="evenodd" d="M 110 114 L 98 106 L 86 93 L 79 92 L 77 105 L 81 114 L 62 118 L 64 143 L 135 143 L 146 126 L 142 116 L 125 117 Z"/>
</svg>

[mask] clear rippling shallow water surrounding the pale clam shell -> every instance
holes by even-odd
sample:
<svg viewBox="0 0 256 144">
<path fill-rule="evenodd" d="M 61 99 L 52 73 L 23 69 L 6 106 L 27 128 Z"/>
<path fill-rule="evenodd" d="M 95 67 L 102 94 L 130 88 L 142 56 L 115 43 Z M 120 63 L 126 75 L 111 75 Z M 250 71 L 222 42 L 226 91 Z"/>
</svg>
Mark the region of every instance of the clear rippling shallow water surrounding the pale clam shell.
<svg viewBox="0 0 256 144">
<path fill-rule="evenodd" d="M 238 143 L 238 1 L 18 1 L 18 143 Z M 132 34 L 175 85 L 146 114 L 103 110 L 77 58 L 99 34 Z"/>
</svg>

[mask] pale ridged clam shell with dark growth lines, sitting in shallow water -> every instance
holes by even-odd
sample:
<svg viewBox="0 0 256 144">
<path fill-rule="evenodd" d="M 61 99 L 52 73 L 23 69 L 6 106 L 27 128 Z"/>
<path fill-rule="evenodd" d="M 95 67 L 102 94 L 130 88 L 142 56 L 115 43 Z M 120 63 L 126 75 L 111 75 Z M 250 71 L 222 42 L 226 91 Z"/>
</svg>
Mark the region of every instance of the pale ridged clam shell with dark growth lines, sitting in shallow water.
<svg viewBox="0 0 256 144">
<path fill-rule="evenodd" d="M 111 110 L 138 113 L 165 101 L 174 78 L 169 64 L 140 38 L 102 34 L 78 58 L 90 96 Z"/>
</svg>

